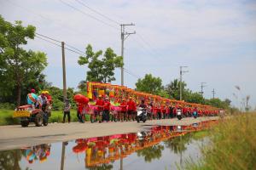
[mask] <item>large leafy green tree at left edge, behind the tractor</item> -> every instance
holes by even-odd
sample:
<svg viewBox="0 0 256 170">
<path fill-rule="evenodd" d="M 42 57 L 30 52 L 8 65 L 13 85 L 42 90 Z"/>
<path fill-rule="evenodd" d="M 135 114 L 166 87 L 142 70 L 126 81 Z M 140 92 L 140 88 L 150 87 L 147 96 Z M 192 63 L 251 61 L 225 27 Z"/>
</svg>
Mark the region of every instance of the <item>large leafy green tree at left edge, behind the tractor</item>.
<svg viewBox="0 0 256 170">
<path fill-rule="evenodd" d="M 42 78 L 47 65 L 46 54 L 23 48 L 27 39 L 35 37 L 36 28 L 21 24 L 15 21 L 12 25 L 0 15 L 0 96 L 3 99 L 15 94 L 18 106 L 21 90 L 26 84 Z"/>
</svg>

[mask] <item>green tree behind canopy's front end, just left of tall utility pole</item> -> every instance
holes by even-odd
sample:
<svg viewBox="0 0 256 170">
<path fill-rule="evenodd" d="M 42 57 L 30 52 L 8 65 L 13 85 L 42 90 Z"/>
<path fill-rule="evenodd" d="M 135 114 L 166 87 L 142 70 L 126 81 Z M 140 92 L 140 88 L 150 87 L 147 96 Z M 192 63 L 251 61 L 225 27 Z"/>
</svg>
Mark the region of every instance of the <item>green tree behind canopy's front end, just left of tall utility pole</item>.
<svg viewBox="0 0 256 170">
<path fill-rule="evenodd" d="M 79 57 L 79 65 L 87 65 L 86 81 L 90 82 L 112 82 L 115 80 L 114 69 L 121 67 L 123 58 L 114 54 L 112 48 L 107 48 L 102 56 L 102 50 L 93 52 L 91 45 L 86 47 L 86 56 Z M 100 57 L 102 56 L 102 59 Z"/>
</svg>

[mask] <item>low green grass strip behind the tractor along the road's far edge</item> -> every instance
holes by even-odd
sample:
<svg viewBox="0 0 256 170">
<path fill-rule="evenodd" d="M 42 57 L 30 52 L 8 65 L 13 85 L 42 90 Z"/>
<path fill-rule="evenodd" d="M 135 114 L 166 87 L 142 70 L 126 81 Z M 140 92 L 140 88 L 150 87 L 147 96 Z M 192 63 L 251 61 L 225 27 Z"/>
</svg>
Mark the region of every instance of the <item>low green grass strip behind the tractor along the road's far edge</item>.
<svg viewBox="0 0 256 170">
<path fill-rule="evenodd" d="M 0 125 L 15 125 L 20 124 L 19 118 L 13 118 L 13 110 L 0 109 Z M 77 112 L 72 110 L 70 112 L 71 122 L 78 122 Z M 51 111 L 49 122 L 62 122 L 63 113 L 62 111 Z M 86 121 L 90 121 L 90 116 L 86 115 Z M 66 117 L 67 122 L 67 117 Z"/>
</svg>

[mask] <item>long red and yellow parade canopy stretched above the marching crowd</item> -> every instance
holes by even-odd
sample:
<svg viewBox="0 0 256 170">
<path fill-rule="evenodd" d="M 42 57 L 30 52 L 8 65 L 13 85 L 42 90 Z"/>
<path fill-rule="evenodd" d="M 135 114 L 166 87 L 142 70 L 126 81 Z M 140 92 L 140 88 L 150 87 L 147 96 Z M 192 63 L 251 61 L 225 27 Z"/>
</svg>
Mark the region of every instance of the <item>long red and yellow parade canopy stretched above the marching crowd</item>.
<svg viewBox="0 0 256 170">
<path fill-rule="evenodd" d="M 195 104 L 195 103 L 188 103 L 184 100 L 176 100 L 176 99 L 166 99 L 163 97 L 160 97 L 158 95 L 154 94 L 147 94 L 144 92 L 139 92 L 131 88 L 127 88 L 125 86 L 119 86 L 119 85 L 113 85 L 110 83 L 102 83 L 102 82 L 87 82 L 87 97 L 89 99 L 94 99 L 93 92 L 97 91 L 98 94 L 102 94 L 102 90 L 113 90 L 114 94 L 111 93 L 109 95 L 110 98 L 121 100 L 123 98 L 127 98 L 128 96 L 131 96 L 135 100 L 139 99 L 145 99 L 147 102 L 157 102 L 160 104 L 174 104 L 174 105 L 189 105 L 192 107 L 198 107 L 200 109 L 209 109 L 209 110 L 218 110 L 218 108 L 213 107 L 211 105 L 201 105 L 201 104 Z M 99 93 L 100 92 L 100 93 Z M 106 94 L 106 93 L 104 93 Z M 96 96 L 95 96 L 96 97 Z"/>
</svg>

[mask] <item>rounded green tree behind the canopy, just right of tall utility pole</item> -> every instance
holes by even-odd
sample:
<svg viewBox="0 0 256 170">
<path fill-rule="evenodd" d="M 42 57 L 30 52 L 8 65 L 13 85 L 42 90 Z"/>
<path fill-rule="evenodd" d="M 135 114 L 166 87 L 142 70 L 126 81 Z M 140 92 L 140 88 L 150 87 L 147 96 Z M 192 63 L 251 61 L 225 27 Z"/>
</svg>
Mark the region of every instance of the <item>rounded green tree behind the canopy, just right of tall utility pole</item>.
<svg viewBox="0 0 256 170">
<path fill-rule="evenodd" d="M 146 74 L 143 79 L 139 78 L 136 82 L 137 91 L 147 92 L 149 94 L 160 94 L 163 86 L 160 77 L 153 77 Z"/>
</svg>

